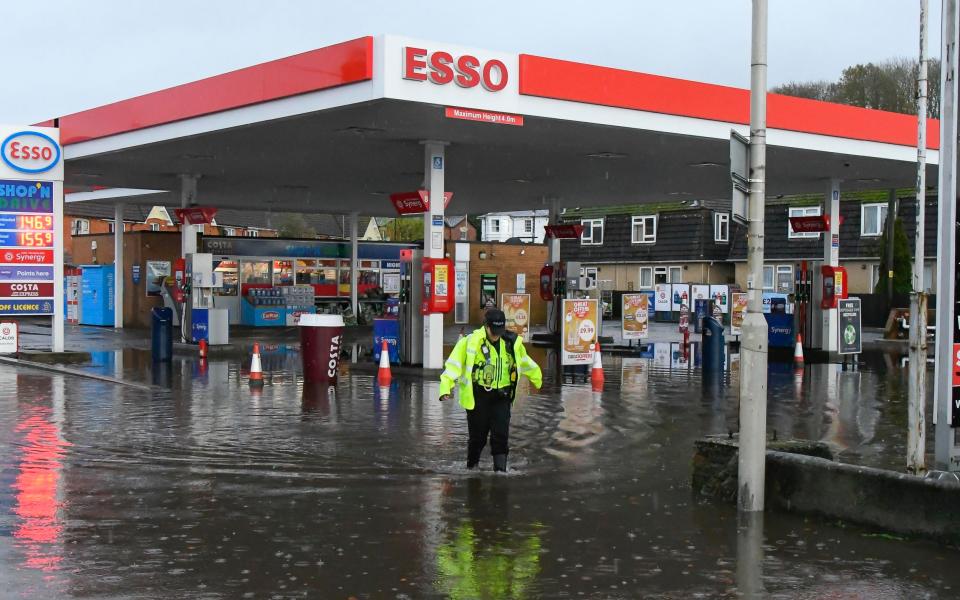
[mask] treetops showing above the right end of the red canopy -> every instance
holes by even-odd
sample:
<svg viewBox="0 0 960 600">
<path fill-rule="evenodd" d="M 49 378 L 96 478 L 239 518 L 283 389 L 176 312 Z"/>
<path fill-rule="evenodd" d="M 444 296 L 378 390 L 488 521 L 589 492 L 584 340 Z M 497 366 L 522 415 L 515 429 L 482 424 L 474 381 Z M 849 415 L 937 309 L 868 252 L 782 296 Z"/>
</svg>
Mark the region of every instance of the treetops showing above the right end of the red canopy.
<svg viewBox="0 0 960 600">
<path fill-rule="evenodd" d="M 772 88 L 776 94 L 850 104 L 904 114 L 917 113 L 918 62 L 893 58 L 884 62 L 853 65 L 843 70 L 840 79 L 788 82 Z M 927 68 L 927 115 L 940 116 L 940 61 L 931 60 Z"/>
</svg>

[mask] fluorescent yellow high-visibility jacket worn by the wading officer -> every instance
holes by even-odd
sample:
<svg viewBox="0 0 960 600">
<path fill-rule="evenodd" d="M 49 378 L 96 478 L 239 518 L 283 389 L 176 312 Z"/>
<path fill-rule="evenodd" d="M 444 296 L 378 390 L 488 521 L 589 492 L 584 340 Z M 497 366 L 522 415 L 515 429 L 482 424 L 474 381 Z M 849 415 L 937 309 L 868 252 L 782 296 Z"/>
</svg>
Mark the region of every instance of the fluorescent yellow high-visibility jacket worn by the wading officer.
<svg viewBox="0 0 960 600">
<path fill-rule="evenodd" d="M 473 410 L 474 383 L 485 389 L 514 388 L 515 380 L 511 379 L 511 372 L 514 377 L 525 376 L 534 387 L 539 388 L 543 384 L 540 367 L 527 354 L 519 336 L 513 344 L 511 356 L 503 337 L 496 344 L 491 344 L 487 340 L 486 328 L 481 327 L 461 338 L 450 352 L 440 374 L 440 395 L 449 394 L 457 385 L 460 406 Z M 510 392 L 512 395 L 512 389 Z"/>
</svg>

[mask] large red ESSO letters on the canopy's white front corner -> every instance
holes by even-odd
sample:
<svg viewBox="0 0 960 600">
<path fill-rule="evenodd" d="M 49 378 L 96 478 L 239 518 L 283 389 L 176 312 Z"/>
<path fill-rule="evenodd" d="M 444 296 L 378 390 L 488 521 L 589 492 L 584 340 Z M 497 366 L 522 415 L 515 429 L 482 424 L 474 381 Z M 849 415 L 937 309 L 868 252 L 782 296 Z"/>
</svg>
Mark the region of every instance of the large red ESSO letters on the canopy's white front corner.
<svg viewBox="0 0 960 600">
<path fill-rule="evenodd" d="M 489 92 L 507 87 L 509 75 L 502 60 L 481 62 L 476 56 L 453 56 L 449 52 L 430 52 L 425 48 L 403 49 L 403 78 L 429 81 L 436 85 L 455 83 L 462 88 L 482 85 Z"/>
</svg>

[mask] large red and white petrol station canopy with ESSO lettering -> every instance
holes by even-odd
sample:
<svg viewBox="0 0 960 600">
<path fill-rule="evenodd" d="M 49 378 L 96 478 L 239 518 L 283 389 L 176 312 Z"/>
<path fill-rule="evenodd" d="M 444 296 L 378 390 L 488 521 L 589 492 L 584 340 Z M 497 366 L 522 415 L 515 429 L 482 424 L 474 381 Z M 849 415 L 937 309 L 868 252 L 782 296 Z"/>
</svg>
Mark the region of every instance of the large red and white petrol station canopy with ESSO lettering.
<svg viewBox="0 0 960 600">
<path fill-rule="evenodd" d="M 197 175 L 204 205 L 377 216 L 423 187 L 428 140 L 448 144 L 453 214 L 728 198 L 748 123 L 743 89 L 384 35 L 41 125 L 78 200 L 179 204 Z M 916 134 L 916 116 L 770 94 L 767 193 L 911 185 Z M 938 121 L 927 139 L 933 181 Z"/>
</svg>

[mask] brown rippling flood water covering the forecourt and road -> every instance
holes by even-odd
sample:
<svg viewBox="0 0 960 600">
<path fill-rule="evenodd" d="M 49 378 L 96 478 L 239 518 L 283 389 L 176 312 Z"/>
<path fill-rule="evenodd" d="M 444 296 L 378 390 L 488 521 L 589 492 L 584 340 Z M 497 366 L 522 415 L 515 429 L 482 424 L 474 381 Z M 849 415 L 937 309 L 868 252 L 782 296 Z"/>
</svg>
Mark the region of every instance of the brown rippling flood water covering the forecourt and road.
<svg viewBox="0 0 960 600">
<path fill-rule="evenodd" d="M 659 345 L 658 345 L 659 346 Z M 539 349 L 533 355 L 549 362 Z M 769 428 L 899 468 L 906 369 L 772 365 Z M 11 598 L 955 598 L 960 552 L 690 490 L 693 442 L 737 426 L 737 367 L 704 390 L 667 344 L 552 369 L 517 401 L 511 472 L 464 468 L 466 420 L 437 384 L 298 382 L 143 353 L 87 367 L 140 389 L 0 367 L 0 596 Z M 694 361 L 695 363 L 695 361 Z M 824 493 L 830 493 L 825 489 Z"/>
</svg>

